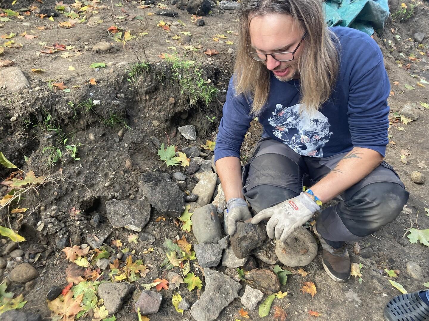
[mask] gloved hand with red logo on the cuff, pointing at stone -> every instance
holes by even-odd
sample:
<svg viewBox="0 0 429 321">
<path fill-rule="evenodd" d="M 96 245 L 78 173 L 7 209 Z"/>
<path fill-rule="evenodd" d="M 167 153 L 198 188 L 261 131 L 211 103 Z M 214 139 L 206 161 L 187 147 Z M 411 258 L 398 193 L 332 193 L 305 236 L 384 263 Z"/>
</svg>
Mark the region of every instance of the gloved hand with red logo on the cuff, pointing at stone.
<svg viewBox="0 0 429 321">
<path fill-rule="evenodd" d="M 269 218 L 266 225 L 268 237 L 284 242 L 295 229 L 307 222 L 319 209 L 320 206 L 310 196 L 301 192 L 296 197 L 260 211 L 250 222 L 257 224 Z"/>
</svg>

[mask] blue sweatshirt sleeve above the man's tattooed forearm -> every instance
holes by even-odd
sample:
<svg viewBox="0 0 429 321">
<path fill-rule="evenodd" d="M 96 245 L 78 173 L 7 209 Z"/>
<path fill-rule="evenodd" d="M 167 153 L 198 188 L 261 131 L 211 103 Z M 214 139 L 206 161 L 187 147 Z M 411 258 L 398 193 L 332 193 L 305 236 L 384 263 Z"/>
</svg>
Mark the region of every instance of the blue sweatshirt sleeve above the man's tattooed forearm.
<svg viewBox="0 0 429 321">
<path fill-rule="evenodd" d="M 373 149 L 384 157 L 389 143 L 390 83 L 381 50 L 372 42 L 353 66 L 347 115 L 353 147 Z"/>
</svg>

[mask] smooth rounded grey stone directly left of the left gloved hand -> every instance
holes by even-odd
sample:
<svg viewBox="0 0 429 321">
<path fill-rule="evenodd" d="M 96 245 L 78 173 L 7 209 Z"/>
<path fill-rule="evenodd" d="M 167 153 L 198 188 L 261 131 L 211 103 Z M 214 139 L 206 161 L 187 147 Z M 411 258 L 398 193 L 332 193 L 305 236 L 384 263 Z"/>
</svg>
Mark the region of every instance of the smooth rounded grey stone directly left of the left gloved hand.
<svg viewBox="0 0 429 321">
<path fill-rule="evenodd" d="M 207 204 L 197 208 L 191 217 L 192 231 L 198 243 L 218 243 L 223 237 L 216 208 Z"/>
</svg>

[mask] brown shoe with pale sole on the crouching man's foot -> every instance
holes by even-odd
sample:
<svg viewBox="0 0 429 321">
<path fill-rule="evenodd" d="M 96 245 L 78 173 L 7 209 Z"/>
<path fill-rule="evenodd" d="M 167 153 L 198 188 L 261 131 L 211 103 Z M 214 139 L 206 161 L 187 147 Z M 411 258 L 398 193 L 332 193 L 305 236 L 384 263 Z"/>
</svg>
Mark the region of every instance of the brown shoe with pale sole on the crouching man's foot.
<svg viewBox="0 0 429 321">
<path fill-rule="evenodd" d="M 346 282 L 350 279 L 350 257 L 347 252 L 346 244 L 339 249 L 334 249 L 317 232 L 317 222 L 313 226 L 313 232 L 320 241 L 323 248 L 322 262 L 323 268 L 329 277 L 336 282 Z"/>
</svg>

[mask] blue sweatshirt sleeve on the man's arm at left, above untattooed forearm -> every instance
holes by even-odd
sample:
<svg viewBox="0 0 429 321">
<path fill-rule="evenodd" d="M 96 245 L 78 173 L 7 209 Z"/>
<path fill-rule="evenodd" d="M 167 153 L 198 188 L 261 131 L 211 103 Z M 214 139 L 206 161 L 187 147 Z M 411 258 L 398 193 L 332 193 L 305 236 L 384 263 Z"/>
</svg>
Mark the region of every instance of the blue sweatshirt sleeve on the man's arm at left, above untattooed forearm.
<svg viewBox="0 0 429 321">
<path fill-rule="evenodd" d="M 219 158 L 234 156 L 240 158 L 240 147 L 250 127 L 250 104 L 243 95 L 236 95 L 233 77 L 228 86 L 227 100 L 223 108 L 215 145 L 215 162 Z"/>
</svg>

